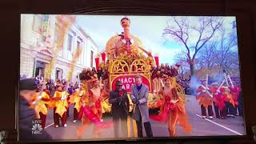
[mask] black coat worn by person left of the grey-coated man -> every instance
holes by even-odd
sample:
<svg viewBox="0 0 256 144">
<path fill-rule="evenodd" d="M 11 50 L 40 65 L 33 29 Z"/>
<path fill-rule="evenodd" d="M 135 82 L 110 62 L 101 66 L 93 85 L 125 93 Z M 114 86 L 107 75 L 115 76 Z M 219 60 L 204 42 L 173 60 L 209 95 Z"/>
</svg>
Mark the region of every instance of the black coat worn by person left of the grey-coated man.
<svg viewBox="0 0 256 144">
<path fill-rule="evenodd" d="M 127 96 L 127 92 L 126 90 L 123 90 L 123 89 L 122 89 L 122 92 L 123 92 L 123 95 L 121 97 L 122 101 L 120 102 L 120 105 L 118 102 L 118 97 L 120 97 L 118 90 L 112 90 L 110 92 L 109 102 L 110 104 L 112 104 L 111 113 L 114 118 L 117 118 L 119 115 L 122 115 L 122 114 L 126 114 L 126 116 L 128 116 L 128 113 L 129 113 L 130 102 Z"/>
</svg>

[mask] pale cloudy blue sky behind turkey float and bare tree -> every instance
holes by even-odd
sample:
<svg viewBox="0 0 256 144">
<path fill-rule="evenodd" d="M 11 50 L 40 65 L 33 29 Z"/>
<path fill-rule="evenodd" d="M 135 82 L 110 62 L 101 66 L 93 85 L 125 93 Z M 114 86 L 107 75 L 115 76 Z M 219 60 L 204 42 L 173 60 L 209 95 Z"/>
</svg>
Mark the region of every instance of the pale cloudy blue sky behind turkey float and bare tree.
<svg viewBox="0 0 256 144">
<path fill-rule="evenodd" d="M 104 50 L 106 42 L 115 34 L 121 34 L 122 26 L 120 20 L 124 16 L 98 16 L 98 15 L 78 15 L 76 22 L 86 34 L 89 34 L 100 50 Z M 166 22 L 171 17 L 159 16 L 128 16 L 130 18 L 130 34 L 139 38 L 146 50 L 151 50 L 153 54 L 158 53 L 160 63 L 174 64 L 174 55 L 185 50 L 184 46 L 172 39 L 166 41 L 162 37 L 162 32 L 166 28 Z M 234 17 L 226 17 L 223 23 L 225 30 L 232 29 Z M 189 21 L 194 22 L 190 17 Z M 194 23 L 196 24 L 196 23 Z M 198 38 L 198 37 L 194 37 Z M 216 34 L 217 38 L 217 34 Z"/>
</svg>

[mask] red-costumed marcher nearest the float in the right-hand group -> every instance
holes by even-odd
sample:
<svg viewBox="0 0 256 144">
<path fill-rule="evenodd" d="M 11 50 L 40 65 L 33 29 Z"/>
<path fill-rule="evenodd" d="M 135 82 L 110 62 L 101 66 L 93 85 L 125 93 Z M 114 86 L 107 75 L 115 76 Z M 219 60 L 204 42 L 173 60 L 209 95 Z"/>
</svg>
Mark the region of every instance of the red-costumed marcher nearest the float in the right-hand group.
<svg viewBox="0 0 256 144">
<path fill-rule="evenodd" d="M 208 110 L 208 115 L 209 118 L 212 119 L 214 116 L 214 112 L 213 112 L 213 108 L 212 108 L 212 103 L 213 103 L 213 95 L 210 94 L 210 92 L 208 91 L 209 88 L 207 87 L 207 83 L 208 83 L 208 75 L 206 77 L 206 81 L 205 85 L 200 85 L 198 87 L 198 90 L 196 90 L 198 94 L 198 96 L 196 97 L 196 99 L 199 101 L 199 105 L 201 106 L 201 112 L 202 112 L 202 118 L 206 118 L 206 109 Z"/>
</svg>

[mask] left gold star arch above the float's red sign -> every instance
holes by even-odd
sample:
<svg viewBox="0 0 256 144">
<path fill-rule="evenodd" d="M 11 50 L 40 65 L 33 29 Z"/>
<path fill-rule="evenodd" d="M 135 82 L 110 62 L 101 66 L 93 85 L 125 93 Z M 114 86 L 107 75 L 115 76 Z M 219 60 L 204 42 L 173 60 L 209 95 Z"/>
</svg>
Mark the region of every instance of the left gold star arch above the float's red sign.
<svg viewBox="0 0 256 144">
<path fill-rule="evenodd" d="M 129 65 L 124 60 L 116 60 L 110 67 L 110 73 L 128 73 Z"/>
</svg>

